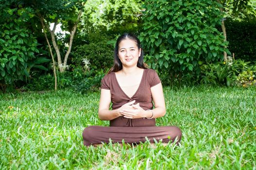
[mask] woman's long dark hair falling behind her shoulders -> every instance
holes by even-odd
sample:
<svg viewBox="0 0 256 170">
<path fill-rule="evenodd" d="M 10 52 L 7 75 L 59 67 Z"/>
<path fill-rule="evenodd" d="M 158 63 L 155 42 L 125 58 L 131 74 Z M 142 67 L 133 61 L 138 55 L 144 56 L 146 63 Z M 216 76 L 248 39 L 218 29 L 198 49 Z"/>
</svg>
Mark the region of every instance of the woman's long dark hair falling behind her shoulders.
<svg viewBox="0 0 256 170">
<path fill-rule="evenodd" d="M 119 43 L 124 39 L 131 39 L 136 42 L 137 48 L 141 49 L 140 57 L 138 57 L 137 67 L 147 69 L 147 65 L 143 62 L 144 54 L 143 54 L 143 50 L 141 48 L 138 37 L 135 34 L 125 33 L 120 35 L 117 39 L 115 50 L 114 50 L 114 65 L 112 68 L 110 68 L 108 73 L 117 72 L 123 68 L 122 63 L 118 58 L 118 49 L 119 49 Z"/>
</svg>

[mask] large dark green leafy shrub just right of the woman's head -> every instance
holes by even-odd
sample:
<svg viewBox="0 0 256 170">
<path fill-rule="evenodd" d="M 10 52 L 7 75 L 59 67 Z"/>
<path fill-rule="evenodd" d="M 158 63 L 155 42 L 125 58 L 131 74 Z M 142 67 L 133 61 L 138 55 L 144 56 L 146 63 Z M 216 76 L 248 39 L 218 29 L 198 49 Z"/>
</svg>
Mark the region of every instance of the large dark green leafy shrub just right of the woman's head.
<svg viewBox="0 0 256 170">
<path fill-rule="evenodd" d="M 140 39 L 147 63 L 165 76 L 190 81 L 199 76 L 199 62 L 223 59 L 220 4 L 211 0 L 146 0 Z"/>
</svg>

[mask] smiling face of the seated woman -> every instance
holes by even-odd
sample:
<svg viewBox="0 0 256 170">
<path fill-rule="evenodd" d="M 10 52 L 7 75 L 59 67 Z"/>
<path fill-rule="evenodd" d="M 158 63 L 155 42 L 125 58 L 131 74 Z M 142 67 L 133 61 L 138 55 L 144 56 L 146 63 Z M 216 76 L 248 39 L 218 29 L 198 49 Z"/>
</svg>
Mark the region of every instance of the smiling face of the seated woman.
<svg viewBox="0 0 256 170">
<path fill-rule="evenodd" d="M 120 41 L 118 57 L 124 67 L 137 66 L 140 53 L 141 49 L 138 49 L 134 40 L 124 39 Z"/>
</svg>

